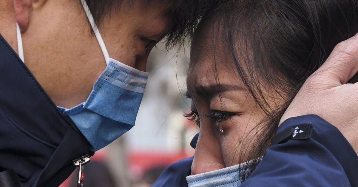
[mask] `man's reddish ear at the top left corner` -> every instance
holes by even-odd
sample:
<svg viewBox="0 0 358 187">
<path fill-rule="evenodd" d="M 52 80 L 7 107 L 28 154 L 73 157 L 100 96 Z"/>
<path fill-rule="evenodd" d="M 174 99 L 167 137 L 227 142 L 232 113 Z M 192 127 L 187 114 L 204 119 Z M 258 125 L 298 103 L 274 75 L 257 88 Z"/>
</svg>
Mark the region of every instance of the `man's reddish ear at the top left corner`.
<svg viewBox="0 0 358 187">
<path fill-rule="evenodd" d="M 14 0 L 16 21 L 21 32 L 25 32 L 29 26 L 31 6 L 32 0 Z"/>
</svg>

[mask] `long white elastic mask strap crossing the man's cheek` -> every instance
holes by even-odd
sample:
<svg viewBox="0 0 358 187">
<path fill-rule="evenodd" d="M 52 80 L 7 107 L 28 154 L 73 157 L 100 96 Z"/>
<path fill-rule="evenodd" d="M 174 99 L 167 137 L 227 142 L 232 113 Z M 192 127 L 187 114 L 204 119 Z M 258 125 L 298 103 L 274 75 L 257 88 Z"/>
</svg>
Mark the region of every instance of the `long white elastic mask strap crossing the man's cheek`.
<svg viewBox="0 0 358 187">
<path fill-rule="evenodd" d="M 102 36 L 101 36 L 101 34 L 100 34 L 100 31 L 99 31 L 98 28 L 97 28 L 97 25 L 96 25 L 96 23 L 95 23 L 95 20 L 93 19 L 93 16 L 92 16 L 92 14 L 91 14 L 91 11 L 90 11 L 89 8 L 88 8 L 88 5 L 87 5 L 86 1 L 85 1 L 85 0 L 81 0 L 81 2 L 82 2 L 82 5 L 83 5 L 83 9 L 84 9 L 84 11 L 86 12 L 88 21 L 89 21 L 89 23 L 90 23 L 91 26 L 92 26 L 93 32 L 94 32 L 95 35 L 96 35 L 96 38 L 97 38 L 97 40 L 98 40 L 98 43 L 100 44 L 100 47 L 101 47 L 101 49 L 102 49 L 103 56 L 105 57 L 105 60 L 106 60 L 106 63 L 108 64 L 108 62 L 110 61 L 110 56 L 109 56 L 109 54 L 108 54 L 108 51 L 107 51 L 105 42 L 103 42 Z"/>
</svg>

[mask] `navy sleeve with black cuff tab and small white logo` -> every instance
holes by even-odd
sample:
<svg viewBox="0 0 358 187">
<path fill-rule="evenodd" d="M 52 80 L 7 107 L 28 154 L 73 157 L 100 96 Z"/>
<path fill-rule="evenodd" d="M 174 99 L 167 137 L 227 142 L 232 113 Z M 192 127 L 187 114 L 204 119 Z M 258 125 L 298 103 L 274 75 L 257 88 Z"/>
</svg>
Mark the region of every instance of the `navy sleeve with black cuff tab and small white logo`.
<svg viewBox="0 0 358 187">
<path fill-rule="evenodd" d="M 358 156 L 342 133 L 319 116 L 290 118 L 241 186 L 358 187 Z"/>
</svg>

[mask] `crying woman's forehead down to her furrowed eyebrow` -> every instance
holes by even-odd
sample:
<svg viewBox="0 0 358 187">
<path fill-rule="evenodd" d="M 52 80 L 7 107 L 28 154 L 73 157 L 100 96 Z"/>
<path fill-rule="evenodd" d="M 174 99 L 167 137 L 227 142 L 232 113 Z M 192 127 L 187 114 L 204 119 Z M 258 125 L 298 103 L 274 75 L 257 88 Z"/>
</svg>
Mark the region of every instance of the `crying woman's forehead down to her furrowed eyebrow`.
<svg viewBox="0 0 358 187">
<path fill-rule="evenodd" d="M 233 58 L 228 55 L 214 21 L 200 24 L 192 39 L 188 89 L 213 85 L 243 86 Z M 219 83 L 219 84 L 218 84 Z"/>
</svg>

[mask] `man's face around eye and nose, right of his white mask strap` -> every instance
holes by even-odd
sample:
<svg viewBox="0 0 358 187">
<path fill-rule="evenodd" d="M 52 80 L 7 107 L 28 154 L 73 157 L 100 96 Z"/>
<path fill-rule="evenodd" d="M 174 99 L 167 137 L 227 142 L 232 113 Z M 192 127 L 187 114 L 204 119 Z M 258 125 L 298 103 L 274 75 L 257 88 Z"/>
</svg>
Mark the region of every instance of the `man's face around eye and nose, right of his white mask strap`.
<svg viewBox="0 0 358 187">
<path fill-rule="evenodd" d="M 112 58 L 145 71 L 151 49 L 170 30 L 170 16 L 158 3 L 124 2 L 121 10 L 106 15 L 100 32 Z"/>
</svg>

